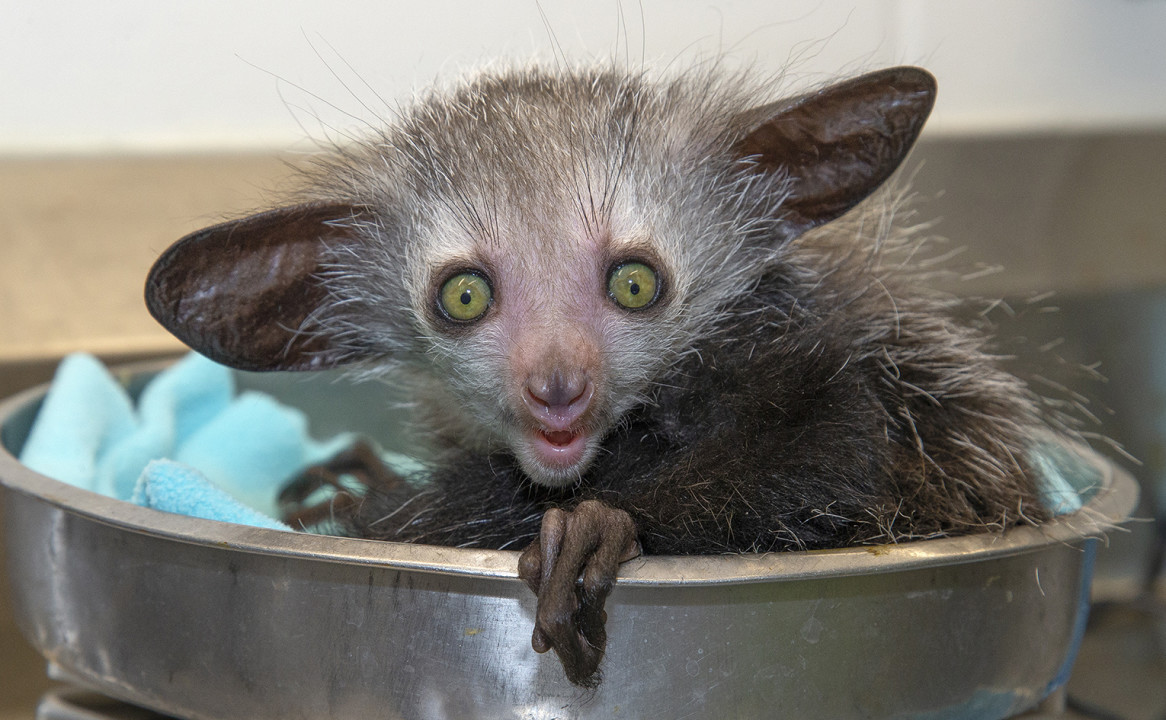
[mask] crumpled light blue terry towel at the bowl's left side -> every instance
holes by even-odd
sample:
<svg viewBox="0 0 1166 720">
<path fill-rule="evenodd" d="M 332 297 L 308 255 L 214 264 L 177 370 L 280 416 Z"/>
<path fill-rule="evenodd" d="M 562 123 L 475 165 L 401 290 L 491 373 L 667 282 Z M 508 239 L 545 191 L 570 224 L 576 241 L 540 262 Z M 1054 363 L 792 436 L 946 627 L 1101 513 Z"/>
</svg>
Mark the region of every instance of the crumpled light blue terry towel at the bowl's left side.
<svg viewBox="0 0 1166 720">
<path fill-rule="evenodd" d="M 272 519 L 280 485 L 352 441 L 316 442 L 303 413 L 236 397 L 231 371 L 189 355 L 142 391 L 138 407 L 93 357 L 65 358 L 21 462 L 118 499 L 230 523 Z M 169 459 L 173 462 L 152 462 Z"/>
</svg>

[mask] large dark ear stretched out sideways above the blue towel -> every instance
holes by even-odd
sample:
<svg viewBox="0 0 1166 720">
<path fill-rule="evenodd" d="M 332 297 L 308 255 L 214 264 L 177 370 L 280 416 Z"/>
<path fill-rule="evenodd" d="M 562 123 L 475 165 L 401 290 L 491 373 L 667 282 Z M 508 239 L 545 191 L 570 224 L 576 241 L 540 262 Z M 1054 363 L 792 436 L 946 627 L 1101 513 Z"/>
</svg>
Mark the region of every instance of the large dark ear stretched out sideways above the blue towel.
<svg viewBox="0 0 1166 720">
<path fill-rule="evenodd" d="M 308 320 L 328 293 L 325 251 L 366 211 L 304 204 L 199 230 L 157 259 L 146 305 L 178 340 L 240 370 L 322 370 L 351 359 Z"/>
</svg>

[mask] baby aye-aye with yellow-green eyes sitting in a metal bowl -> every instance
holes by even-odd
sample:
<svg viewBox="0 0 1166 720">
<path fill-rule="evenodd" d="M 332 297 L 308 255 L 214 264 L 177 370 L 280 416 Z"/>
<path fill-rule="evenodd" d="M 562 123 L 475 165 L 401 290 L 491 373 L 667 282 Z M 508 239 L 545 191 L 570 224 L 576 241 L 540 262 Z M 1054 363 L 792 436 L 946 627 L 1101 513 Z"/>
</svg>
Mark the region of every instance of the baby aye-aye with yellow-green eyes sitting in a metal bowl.
<svg viewBox="0 0 1166 720">
<path fill-rule="evenodd" d="M 934 97 L 915 68 L 785 99 L 717 69 L 482 75 L 322 158 L 286 207 L 176 243 L 147 300 L 227 365 L 406 378 L 423 482 L 372 473 L 332 520 L 525 547 L 534 648 L 593 685 L 604 600 L 640 552 L 1047 516 L 1025 384 L 912 285 L 886 202 L 834 222 Z"/>
</svg>

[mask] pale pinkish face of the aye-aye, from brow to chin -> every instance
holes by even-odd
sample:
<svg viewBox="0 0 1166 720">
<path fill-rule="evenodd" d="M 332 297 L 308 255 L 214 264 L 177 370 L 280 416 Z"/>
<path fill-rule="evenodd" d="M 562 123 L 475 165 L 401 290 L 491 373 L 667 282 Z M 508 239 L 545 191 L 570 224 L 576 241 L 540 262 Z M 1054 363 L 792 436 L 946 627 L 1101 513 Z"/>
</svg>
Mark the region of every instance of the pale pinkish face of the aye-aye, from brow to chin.
<svg viewBox="0 0 1166 720">
<path fill-rule="evenodd" d="M 666 232 L 623 200 L 584 217 L 575 188 L 555 190 L 550 204 L 496 208 L 489 237 L 430 230 L 442 240 L 421 244 L 410 293 L 463 442 L 506 447 L 547 485 L 580 477 L 694 324 L 690 260 Z"/>
</svg>

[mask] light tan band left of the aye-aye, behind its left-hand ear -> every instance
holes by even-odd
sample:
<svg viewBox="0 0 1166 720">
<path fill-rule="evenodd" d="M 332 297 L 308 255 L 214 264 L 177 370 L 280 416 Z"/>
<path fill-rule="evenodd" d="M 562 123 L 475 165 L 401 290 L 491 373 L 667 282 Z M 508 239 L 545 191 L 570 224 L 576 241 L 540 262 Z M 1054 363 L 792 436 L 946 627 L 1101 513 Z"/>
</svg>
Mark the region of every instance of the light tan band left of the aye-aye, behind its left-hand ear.
<svg viewBox="0 0 1166 720">
<path fill-rule="evenodd" d="M 150 264 L 288 175 L 274 155 L 0 160 L 0 363 L 177 350 L 142 301 Z"/>
</svg>

